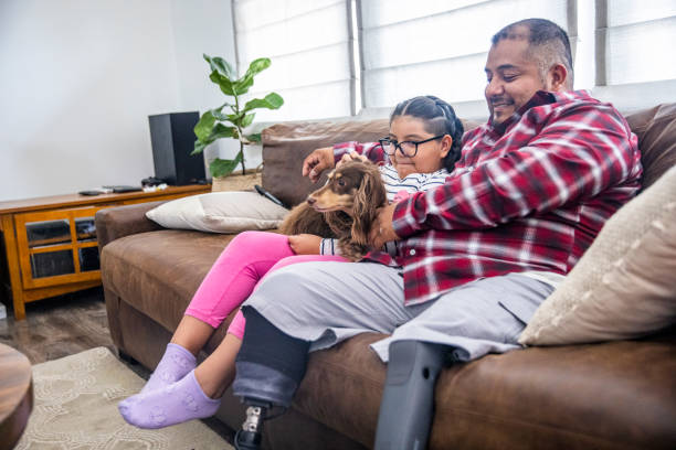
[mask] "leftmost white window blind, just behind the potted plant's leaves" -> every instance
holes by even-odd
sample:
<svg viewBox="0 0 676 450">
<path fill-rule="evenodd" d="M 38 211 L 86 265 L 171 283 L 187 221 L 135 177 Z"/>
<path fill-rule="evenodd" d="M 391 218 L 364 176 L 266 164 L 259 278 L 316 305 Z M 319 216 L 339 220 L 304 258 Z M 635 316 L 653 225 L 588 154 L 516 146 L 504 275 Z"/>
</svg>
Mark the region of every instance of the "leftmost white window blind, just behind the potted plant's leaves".
<svg viewBox="0 0 676 450">
<path fill-rule="evenodd" d="M 284 106 L 256 121 L 353 115 L 350 3 L 346 0 L 233 0 L 237 67 L 270 57 L 246 98 L 276 92 Z"/>
</svg>

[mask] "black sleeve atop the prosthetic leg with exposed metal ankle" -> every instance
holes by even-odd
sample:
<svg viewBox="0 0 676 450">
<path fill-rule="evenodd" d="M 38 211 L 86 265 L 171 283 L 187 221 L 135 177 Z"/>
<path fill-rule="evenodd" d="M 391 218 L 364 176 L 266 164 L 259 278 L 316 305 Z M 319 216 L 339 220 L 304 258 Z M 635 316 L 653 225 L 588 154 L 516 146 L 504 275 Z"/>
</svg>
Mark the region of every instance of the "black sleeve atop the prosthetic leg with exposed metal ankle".
<svg viewBox="0 0 676 450">
<path fill-rule="evenodd" d="M 244 307 L 242 313 L 246 328 L 235 361 L 267 366 L 300 384 L 307 367 L 309 342 L 284 333 L 253 308 Z"/>
</svg>

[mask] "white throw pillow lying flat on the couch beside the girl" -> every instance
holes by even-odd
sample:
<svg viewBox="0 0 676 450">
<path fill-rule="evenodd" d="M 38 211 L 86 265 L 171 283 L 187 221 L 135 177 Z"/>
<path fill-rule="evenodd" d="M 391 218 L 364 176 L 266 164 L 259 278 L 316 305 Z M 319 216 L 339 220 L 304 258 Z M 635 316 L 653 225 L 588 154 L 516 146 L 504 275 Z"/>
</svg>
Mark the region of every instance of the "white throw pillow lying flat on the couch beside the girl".
<svg viewBox="0 0 676 450">
<path fill-rule="evenodd" d="M 166 228 L 239 233 L 276 228 L 288 210 L 255 192 L 211 192 L 163 203 L 146 217 Z"/>
</svg>

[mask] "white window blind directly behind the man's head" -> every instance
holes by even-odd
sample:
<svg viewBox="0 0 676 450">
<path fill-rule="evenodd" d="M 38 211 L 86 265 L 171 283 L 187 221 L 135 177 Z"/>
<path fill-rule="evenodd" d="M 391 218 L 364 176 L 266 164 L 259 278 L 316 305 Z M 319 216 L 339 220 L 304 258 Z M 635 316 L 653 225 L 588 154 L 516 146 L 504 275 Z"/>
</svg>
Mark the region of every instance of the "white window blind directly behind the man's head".
<svg viewBox="0 0 676 450">
<path fill-rule="evenodd" d="M 574 45 L 575 2 L 567 0 L 363 0 L 358 2 L 366 108 L 433 94 L 448 101 L 484 98 L 490 38 L 532 17 L 566 29 Z"/>
</svg>

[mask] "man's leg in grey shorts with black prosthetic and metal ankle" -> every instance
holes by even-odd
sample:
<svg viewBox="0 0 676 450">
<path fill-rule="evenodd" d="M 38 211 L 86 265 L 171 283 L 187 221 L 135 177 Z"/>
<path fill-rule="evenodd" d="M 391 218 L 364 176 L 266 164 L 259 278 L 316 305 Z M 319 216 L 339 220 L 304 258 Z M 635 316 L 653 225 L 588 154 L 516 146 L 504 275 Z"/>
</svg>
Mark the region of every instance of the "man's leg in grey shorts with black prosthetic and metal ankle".
<svg viewBox="0 0 676 450">
<path fill-rule="evenodd" d="M 378 264 L 307 262 L 270 274 L 243 307 L 246 329 L 233 393 L 249 408 L 239 448 L 257 448 L 270 408 L 291 405 L 308 349 L 362 331 L 391 333 L 420 310 L 403 307 L 397 269 Z"/>
</svg>

